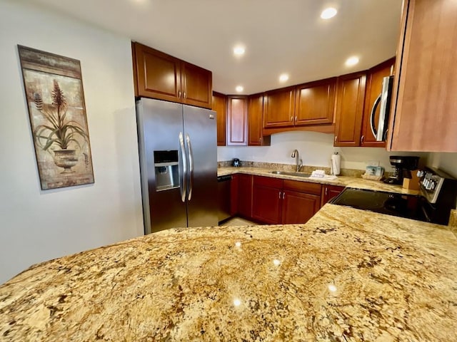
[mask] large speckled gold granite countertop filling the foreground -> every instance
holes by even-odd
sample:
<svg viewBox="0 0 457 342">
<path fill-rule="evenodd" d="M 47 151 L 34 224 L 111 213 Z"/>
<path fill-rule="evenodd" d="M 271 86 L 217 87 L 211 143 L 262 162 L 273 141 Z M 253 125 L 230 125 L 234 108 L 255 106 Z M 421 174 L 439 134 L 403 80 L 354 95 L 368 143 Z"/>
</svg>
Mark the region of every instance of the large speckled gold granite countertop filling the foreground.
<svg viewBox="0 0 457 342">
<path fill-rule="evenodd" d="M 0 286 L 0 341 L 455 341 L 457 239 L 326 204 L 306 224 L 169 229 Z"/>
</svg>

